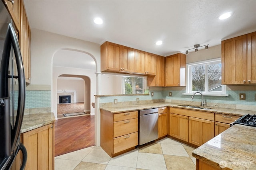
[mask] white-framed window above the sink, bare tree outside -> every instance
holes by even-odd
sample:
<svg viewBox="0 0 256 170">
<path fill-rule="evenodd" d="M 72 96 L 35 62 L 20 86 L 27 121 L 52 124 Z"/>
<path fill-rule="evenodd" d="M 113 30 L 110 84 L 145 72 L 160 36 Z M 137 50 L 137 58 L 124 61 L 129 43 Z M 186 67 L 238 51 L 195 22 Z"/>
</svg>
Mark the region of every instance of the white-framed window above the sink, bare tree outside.
<svg viewBox="0 0 256 170">
<path fill-rule="evenodd" d="M 221 59 L 187 64 L 187 93 L 226 94 L 221 84 Z"/>
</svg>

